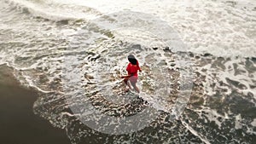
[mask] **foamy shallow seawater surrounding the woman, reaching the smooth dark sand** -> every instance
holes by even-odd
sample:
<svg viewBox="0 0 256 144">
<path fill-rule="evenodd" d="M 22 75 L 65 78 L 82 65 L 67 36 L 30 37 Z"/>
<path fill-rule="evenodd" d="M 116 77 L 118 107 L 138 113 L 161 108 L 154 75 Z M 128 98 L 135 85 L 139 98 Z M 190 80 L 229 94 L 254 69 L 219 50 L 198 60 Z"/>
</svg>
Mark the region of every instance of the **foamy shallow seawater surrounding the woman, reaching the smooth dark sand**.
<svg viewBox="0 0 256 144">
<path fill-rule="evenodd" d="M 2 0 L 0 8 L 0 62 L 44 92 L 34 112 L 72 143 L 255 141 L 254 1 Z M 143 68 L 138 96 L 124 94 L 119 78 L 128 53 Z M 83 124 L 99 120 L 86 115 L 92 107 L 114 118 L 149 107 L 153 120 L 103 134 Z"/>
</svg>

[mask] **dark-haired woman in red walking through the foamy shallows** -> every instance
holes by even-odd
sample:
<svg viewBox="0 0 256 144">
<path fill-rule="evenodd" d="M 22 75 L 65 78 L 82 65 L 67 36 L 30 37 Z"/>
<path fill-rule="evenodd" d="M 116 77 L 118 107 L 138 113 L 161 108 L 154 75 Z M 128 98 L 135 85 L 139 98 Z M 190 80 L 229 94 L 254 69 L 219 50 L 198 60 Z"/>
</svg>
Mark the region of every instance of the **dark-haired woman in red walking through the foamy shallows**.
<svg viewBox="0 0 256 144">
<path fill-rule="evenodd" d="M 128 72 L 128 76 L 123 76 L 125 78 L 125 84 L 128 85 L 129 89 L 131 89 L 131 85 L 136 91 L 139 93 L 140 90 L 137 88 L 137 71 L 142 72 L 138 61 L 134 57 L 134 55 L 128 55 L 128 60 L 130 61 L 128 66 L 126 67 L 126 71 Z M 128 83 L 130 81 L 131 85 Z"/>
</svg>

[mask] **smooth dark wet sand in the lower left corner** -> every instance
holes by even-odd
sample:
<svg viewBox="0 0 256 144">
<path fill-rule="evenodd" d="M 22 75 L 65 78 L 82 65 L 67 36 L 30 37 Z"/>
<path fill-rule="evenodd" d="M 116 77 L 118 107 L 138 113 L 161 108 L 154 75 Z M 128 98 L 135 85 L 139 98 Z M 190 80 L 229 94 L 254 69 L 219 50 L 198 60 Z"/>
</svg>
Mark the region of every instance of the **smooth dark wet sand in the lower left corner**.
<svg viewBox="0 0 256 144">
<path fill-rule="evenodd" d="M 0 143 L 70 144 L 65 130 L 33 113 L 38 92 L 21 87 L 12 72 L 8 66 L 0 66 Z"/>
</svg>

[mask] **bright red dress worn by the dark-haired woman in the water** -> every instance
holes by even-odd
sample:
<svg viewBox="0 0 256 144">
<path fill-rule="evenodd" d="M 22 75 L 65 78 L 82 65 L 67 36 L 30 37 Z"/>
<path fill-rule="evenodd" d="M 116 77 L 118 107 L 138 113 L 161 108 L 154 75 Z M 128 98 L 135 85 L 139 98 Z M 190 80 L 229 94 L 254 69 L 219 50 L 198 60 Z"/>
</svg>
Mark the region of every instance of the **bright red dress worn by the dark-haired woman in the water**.
<svg viewBox="0 0 256 144">
<path fill-rule="evenodd" d="M 137 65 L 132 65 L 131 62 L 126 67 L 126 71 L 128 72 L 128 75 L 131 75 L 129 78 L 131 83 L 137 83 L 137 71 L 140 71 L 141 67 L 139 66 L 139 63 L 137 61 Z"/>
</svg>

